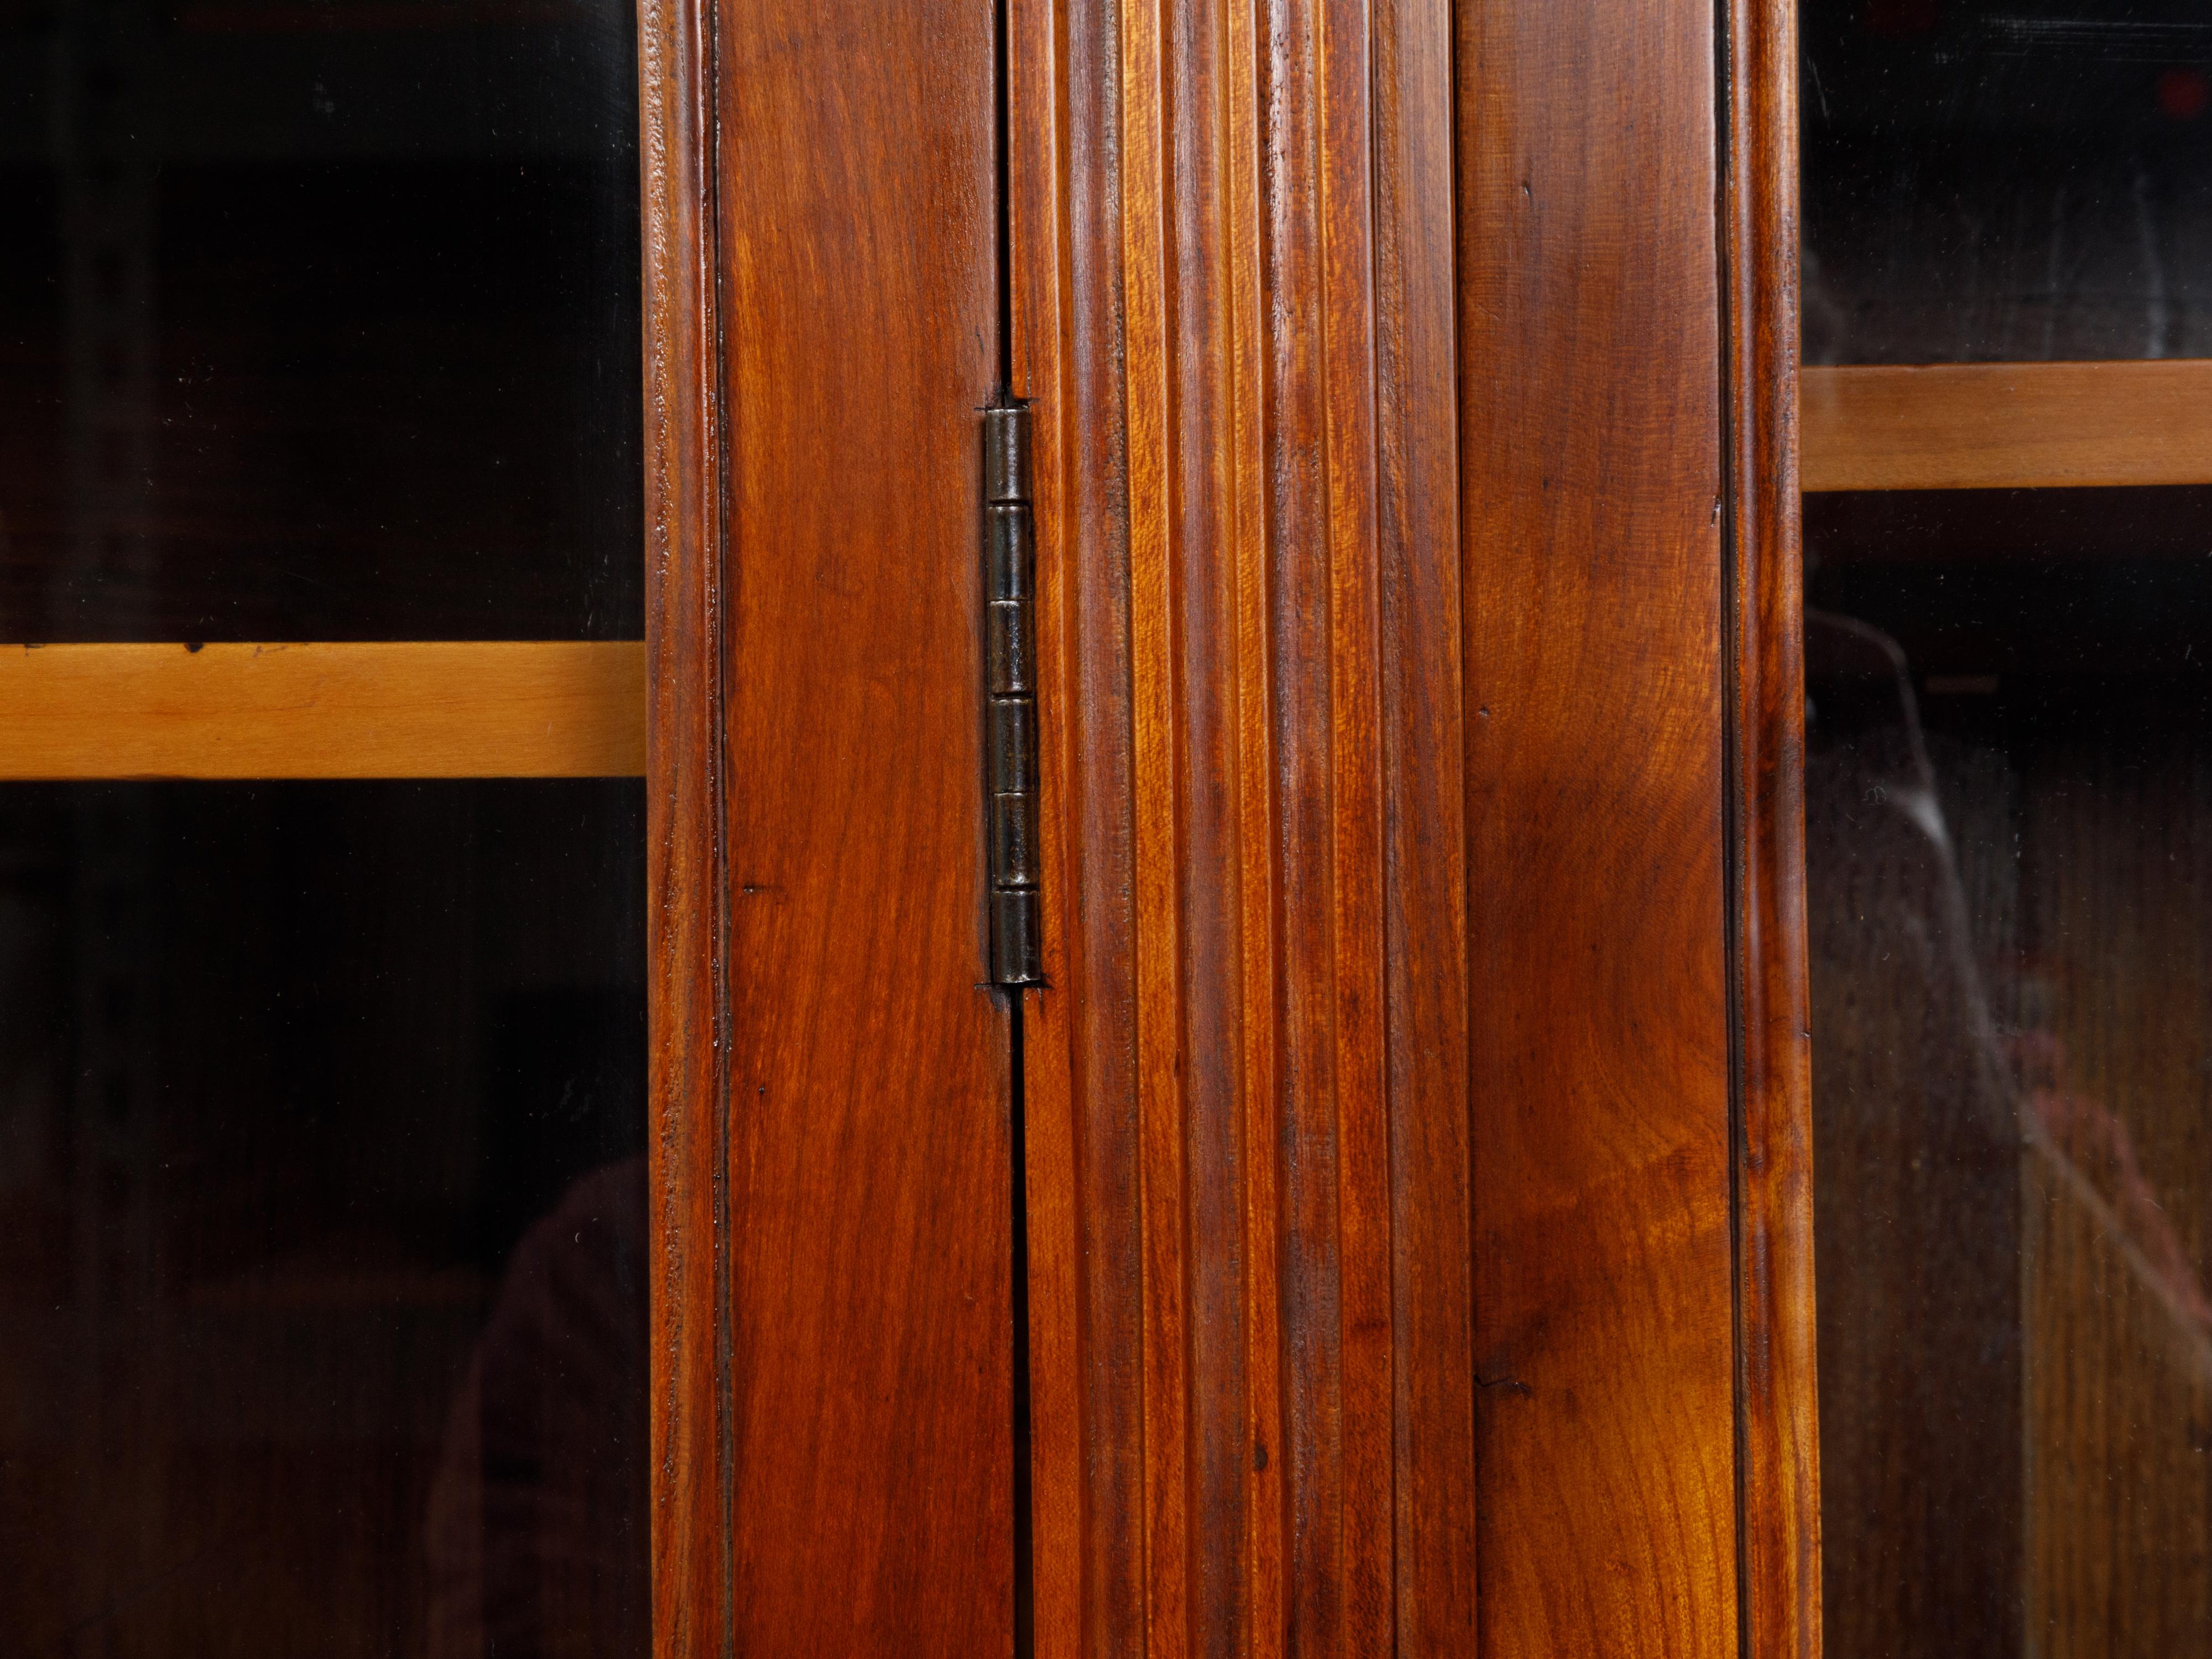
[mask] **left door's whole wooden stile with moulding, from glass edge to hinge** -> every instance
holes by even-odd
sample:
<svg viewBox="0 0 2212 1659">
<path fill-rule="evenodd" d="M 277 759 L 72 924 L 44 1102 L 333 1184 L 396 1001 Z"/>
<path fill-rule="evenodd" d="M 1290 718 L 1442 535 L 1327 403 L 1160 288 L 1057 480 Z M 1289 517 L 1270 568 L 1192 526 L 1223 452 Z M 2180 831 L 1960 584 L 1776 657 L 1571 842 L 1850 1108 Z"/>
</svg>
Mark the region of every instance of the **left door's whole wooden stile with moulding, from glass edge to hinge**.
<svg viewBox="0 0 2212 1659">
<path fill-rule="evenodd" d="M 659 1648 L 1013 1644 L 991 18 L 648 13 Z"/>
</svg>

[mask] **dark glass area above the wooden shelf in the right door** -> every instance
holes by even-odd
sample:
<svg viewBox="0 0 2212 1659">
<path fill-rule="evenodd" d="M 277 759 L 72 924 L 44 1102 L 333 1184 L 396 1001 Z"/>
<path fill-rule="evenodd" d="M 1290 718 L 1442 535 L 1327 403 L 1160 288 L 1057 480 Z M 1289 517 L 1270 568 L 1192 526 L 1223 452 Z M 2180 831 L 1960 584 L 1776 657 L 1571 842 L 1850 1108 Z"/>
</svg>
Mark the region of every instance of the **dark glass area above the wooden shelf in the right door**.
<svg viewBox="0 0 2212 1659">
<path fill-rule="evenodd" d="M 2201 0 L 1803 0 L 1805 361 L 2212 356 Z"/>
</svg>

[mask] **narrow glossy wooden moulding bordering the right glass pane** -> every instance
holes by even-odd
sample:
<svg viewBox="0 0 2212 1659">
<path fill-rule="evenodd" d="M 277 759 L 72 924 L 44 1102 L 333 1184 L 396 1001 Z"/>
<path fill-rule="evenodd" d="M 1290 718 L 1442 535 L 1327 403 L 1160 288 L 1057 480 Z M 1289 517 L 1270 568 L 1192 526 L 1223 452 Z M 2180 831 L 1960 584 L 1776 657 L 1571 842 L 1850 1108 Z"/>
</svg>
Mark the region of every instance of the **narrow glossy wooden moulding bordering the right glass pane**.
<svg viewBox="0 0 2212 1659">
<path fill-rule="evenodd" d="M 1728 562 L 1743 1652 L 1818 1659 L 1796 2 L 1730 0 Z"/>
</svg>

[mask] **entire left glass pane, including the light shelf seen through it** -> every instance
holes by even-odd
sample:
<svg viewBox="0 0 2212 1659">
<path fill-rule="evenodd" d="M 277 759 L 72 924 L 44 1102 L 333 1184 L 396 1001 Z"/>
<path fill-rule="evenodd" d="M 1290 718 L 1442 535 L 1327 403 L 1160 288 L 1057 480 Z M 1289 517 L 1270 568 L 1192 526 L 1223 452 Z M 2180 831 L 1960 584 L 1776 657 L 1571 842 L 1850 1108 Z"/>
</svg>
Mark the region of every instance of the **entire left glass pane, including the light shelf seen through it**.
<svg viewBox="0 0 2212 1659">
<path fill-rule="evenodd" d="M 0 33 L 0 1646 L 644 1655 L 630 9 Z"/>
</svg>

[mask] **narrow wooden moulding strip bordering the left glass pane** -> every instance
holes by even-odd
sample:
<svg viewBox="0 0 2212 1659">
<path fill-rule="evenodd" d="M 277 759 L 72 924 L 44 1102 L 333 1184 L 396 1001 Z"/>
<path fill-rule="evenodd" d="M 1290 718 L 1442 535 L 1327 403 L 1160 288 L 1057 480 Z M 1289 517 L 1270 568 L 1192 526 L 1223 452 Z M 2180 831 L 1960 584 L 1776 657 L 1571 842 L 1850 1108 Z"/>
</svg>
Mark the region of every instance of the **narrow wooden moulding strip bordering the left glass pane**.
<svg viewBox="0 0 2212 1659">
<path fill-rule="evenodd" d="M 712 0 L 639 0 L 655 1659 L 734 1648 L 721 283 Z"/>
</svg>

